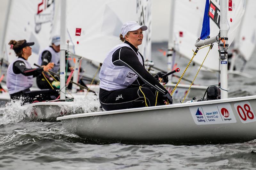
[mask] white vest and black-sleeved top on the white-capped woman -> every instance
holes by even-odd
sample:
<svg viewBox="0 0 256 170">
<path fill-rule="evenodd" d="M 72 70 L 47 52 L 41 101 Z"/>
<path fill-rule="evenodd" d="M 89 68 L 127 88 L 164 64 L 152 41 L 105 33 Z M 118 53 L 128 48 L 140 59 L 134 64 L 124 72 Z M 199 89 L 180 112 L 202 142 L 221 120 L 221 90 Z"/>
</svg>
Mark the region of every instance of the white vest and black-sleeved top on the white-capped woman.
<svg viewBox="0 0 256 170">
<path fill-rule="evenodd" d="M 140 79 L 162 94 L 168 93 L 145 69 L 143 56 L 136 47 L 127 41 L 114 47 L 101 66 L 100 88 L 108 91 L 125 89 Z"/>
</svg>

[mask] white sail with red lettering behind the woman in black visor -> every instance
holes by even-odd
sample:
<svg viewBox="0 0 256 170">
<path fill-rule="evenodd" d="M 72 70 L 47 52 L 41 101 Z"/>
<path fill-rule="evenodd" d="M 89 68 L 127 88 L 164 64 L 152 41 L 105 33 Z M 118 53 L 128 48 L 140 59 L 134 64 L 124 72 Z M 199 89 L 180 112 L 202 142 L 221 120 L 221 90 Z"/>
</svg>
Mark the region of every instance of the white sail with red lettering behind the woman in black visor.
<svg viewBox="0 0 256 170">
<path fill-rule="evenodd" d="M 33 67 L 37 63 L 39 53 L 51 43 L 52 20 L 54 18 L 54 0 L 12 0 L 9 20 L 6 25 L 3 55 L 12 62 L 15 58 L 14 50 L 10 49 L 10 40 L 24 40 L 35 42 L 32 55 L 28 61 Z"/>
</svg>

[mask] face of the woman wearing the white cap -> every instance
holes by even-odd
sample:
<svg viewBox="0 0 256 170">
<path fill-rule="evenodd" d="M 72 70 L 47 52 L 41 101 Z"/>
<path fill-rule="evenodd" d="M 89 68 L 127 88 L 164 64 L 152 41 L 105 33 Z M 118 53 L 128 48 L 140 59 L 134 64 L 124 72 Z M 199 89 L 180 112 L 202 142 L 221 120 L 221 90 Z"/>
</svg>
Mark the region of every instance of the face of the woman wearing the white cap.
<svg viewBox="0 0 256 170">
<path fill-rule="evenodd" d="M 134 45 L 136 48 L 142 43 L 143 40 L 143 34 L 142 29 L 138 29 L 136 31 L 131 31 L 129 34 L 125 36 L 125 39 Z"/>
</svg>

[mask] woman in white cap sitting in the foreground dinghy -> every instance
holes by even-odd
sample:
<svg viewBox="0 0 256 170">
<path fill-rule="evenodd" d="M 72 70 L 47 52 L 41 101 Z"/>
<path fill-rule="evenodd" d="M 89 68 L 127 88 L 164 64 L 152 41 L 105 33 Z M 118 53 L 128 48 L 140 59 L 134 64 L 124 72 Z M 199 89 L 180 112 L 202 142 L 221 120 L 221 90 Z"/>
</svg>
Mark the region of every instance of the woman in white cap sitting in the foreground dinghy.
<svg viewBox="0 0 256 170">
<path fill-rule="evenodd" d="M 138 51 L 142 31 L 147 29 L 134 21 L 124 23 L 120 34 L 124 43 L 115 46 L 105 58 L 99 75 L 100 104 L 105 110 L 163 105 L 166 101 L 172 104 L 172 97 L 158 82 L 158 77 L 156 80 L 145 69 L 143 56 Z M 168 78 L 162 82 L 167 83 Z"/>
</svg>

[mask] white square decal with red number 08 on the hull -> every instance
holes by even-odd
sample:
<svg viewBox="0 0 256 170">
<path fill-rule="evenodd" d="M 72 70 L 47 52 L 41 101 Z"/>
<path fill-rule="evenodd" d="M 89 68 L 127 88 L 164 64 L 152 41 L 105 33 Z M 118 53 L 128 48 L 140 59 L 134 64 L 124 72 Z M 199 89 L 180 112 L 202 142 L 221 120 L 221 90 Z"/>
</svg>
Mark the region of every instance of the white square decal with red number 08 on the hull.
<svg viewBox="0 0 256 170">
<path fill-rule="evenodd" d="M 236 112 L 242 123 L 249 123 L 256 121 L 252 107 L 248 101 L 234 104 Z"/>
</svg>

